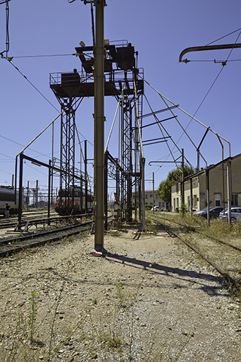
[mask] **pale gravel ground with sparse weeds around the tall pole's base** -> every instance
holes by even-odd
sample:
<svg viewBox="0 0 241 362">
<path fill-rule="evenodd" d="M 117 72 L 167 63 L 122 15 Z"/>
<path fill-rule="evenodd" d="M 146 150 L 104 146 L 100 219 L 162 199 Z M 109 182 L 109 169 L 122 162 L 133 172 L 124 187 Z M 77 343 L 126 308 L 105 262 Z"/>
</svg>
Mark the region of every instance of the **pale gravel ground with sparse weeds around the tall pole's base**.
<svg viewBox="0 0 241 362">
<path fill-rule="evenodd" d="M 78 235 L 1 259 L 0 361 L 241 361 L 240 303 L 217 272 L 136 231 L 107 233 L 106 257 Z"/>
</svg>

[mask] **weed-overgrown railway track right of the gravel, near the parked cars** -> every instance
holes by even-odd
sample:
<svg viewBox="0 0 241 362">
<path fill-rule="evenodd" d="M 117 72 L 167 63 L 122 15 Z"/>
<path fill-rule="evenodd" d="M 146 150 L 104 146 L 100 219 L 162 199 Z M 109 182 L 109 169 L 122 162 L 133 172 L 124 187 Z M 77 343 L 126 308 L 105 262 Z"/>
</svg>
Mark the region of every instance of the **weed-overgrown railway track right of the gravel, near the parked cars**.
<svg viewBox="0 0 241 362">
<path fill-rule="evenodd" d="M 241 241 L 239 241 L 240 245 L 234 245 L 212 235 L 202 233 L 194 227 L 188 227 L 189 232 L 187 232 L 187 225 L 177 221 L 156 215 L 151 218 L 155 222 L 165 220 L 165 223 L 162 223 L 162 225 L 169 233 L 181 240 L 182 243 L 196 252 L 199 257 L 206 260 L 208 264 L 223 276 L 228 284 L 233 284 L 235 288 L 241 291 Z M 178 227 L 173 225 L 178 225 Z M 180 230 L 180 226 L 182 230 Z"/>
</svg>

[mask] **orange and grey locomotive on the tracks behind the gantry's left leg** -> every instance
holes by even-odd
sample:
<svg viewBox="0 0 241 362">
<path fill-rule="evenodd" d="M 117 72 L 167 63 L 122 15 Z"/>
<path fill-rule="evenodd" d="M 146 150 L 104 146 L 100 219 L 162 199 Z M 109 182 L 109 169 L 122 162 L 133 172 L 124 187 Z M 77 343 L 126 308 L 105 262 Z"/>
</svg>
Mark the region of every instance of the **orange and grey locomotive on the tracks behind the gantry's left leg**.
<svg viewBox="0 0 241 362">
<path fill-rule="evenodd" d="M 74 192 L 74 205 L 72 205 Z M 81 191 L 81 188 L 75 187 L 73 191 L 66 192 L 65 189 L 60 189 L 58 196 L 55 198 L 54 210 L 59 215 L 76 215 L 86 212 L 86 197 Z M 87 197 L 87 212 L 93 212 L 93 197 L 88 194 Z"/>
</svg>

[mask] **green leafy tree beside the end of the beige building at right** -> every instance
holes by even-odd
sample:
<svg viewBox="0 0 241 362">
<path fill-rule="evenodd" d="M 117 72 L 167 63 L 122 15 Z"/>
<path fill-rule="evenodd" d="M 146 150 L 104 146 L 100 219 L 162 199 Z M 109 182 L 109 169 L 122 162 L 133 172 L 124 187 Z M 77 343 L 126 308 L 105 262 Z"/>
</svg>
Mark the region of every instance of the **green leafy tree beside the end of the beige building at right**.
<svg viewBox="0 0 241 362">
<path fill-rule="evenodd" d="M 184 177 L 192 175 L 194 170 L 187 165 L 184 165 Z M 173 182 L 180 181 L 182 178 L 182 168 L 177 168 L 175 170 L 170 171 L 167 175 L 167 179 L 160 182 L 158 188 L 158 196 L 160 199 L 163 199 L 165 202 L 171 202 L 171 185 Z"/>
</svg>

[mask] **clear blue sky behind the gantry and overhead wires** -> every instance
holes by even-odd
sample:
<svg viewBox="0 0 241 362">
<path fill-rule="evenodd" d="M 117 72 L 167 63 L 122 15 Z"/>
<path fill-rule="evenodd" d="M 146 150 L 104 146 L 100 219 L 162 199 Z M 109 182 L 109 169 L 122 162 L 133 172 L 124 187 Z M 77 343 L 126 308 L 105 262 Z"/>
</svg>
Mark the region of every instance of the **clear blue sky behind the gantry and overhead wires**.
<svg viewBox="0 0 241 362">
<path fill-rule="evenodd" d="M 139 67 L 143 68 L 145 80 L 190 115 L 194 115 L 201 105 L 195 117 L 230 141 L 231 156 L 240 153 L 241 49 L 233 49 L 231 54 L 229 49 L 188 53 L 184 56 L 184 59 L 192 60 L 188 64 L 179 63 L 178 60 L 183 49 L 207 45 L 230 33 L 214 44 L 241 42 L 241 36 L 238 38 L 240 30 L 235 31 L 241 28 L 240 11 L 239 0 L 107 0 L 105 7 L 105 38 L 131 42 L 139 52 Z M 73 71 L 74 68 L 81 71 L 81 62 L 77 57 L 53 55 L 73 54 L 81 40 L 86 45 L 92 45 L 90 5 L 84 5 L 81 0 L 72 4 L 68 0 L 11 0 L 9 37 L 8 57 L 13 57 L 12 64 L 0 58 L 0 185 L 11 185 L 16 154 L 58 115 L 59 103 L 49 88 L 49 74 Z M 0 52 L 6 49 L 5 42 L 5 4 L 1 4 Z M 47 54 L 52 57 L 26 57 Z M 230 62 L 225 66 L 214 63 L 214 59 L 224 61 L 227 58 Z M 145 84 L 145 94 L 153 110 L 166 107 L 148 84 Z M 204 102 L 201 104 L 202 100 Z M 105 139 L 110 132 L 116 107 L 116 100 L 105 100 Z M 143 113 L 148 112 L 150 109 L 144 101 Z M 180 110 L 173 112 L 185 129 L 190 117 Z M 158 115 L 159 119 L 170 116 L 167 112 Z M 152 122 L 153 117 L 143 119 L 143 124 Z M 83 100 L 76 112 L 76 124 L 81 141 L 88 139 L 88 158 L 93 158 L 93 99 Z M 163 125 L 177 142 L 178 148 L 184 148 L 184 155 L 195 167 L 195 148 L 187 136 L 182 135 L 180 125 L 173 119 L 163 122 Z M 109 151 L 117 157 L 118 125 L 114 127 Z M 187 127 L 189 137 L 196 146 L 205 131 L 194 120 Z M 160 136 L 157 126 L 143 131 L 143 139 Z M 59 122 L 55 122 L 56 157 L 59 157 L 59 139 Z M 228 157 L 228 143 L 223 141 L 223 146 L 224 157 Z M 180 156 L 171 143 L 170 149 L 175 157 Z M 172 160 L 164 143 L 146 146 L 144 153 L 146 179 L 150 180 L 154 172 L 156 188 L 175 165 L 148 165 L 151 160 Z M 221 144 L 211 132 L 208 132 L 201 146 L 201 153 L 208 165 L 221 160 Z M 52 129 L 42 134 L 25 154 L 47 163 L 52 155 Z M 76 164 L 79 161 L 79 149 L 76 148 Z M 205 163 L 201 161 L 200 166 L 205 167 Z M 89 172 L 93 175 L 92 165 L 89 165 Z M 47 171 L 27 161 L 24 165 L 24 186 L 28 180 L 30 187 L 35 186 L 36 180 L 39 180 L 40 187 L 44 187 L 47 185 Z M 57 180 L 54 185 L 58 187 Z M 151 182 L 146 182 L 146 189 L 152 189 Z"/>
</svg>

